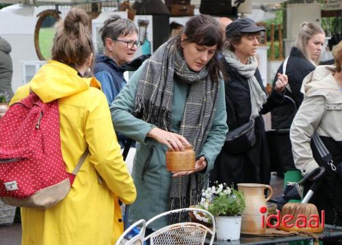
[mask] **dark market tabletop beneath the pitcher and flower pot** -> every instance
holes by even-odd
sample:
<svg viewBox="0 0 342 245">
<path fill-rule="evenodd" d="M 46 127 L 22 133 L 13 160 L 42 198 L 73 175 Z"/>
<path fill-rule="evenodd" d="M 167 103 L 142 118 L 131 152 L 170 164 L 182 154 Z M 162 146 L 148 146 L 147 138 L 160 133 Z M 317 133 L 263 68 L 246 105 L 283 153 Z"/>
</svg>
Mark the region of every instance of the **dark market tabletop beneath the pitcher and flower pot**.
<svg viewBox="0 0 342 245">
<path fill-rule="evenodd" d="M 324 231 L 321 233 L 316 233 L 319 240 L 324 240 L 328 237 L 342 237 L 342 227 L 334 227 L 332 225 L 326 224 Z M 297 242 L 297 241 L 310 241 L 313 237 L 304 237 L 301 235 L 291 235 L 288 237 L 263 237 L 263 236 L 252 236 L 241 234 L 239 241 L 225 242 L 225 241 L 214 241 L 215 245 L 261 245 L 261 244 L 278 244 L 282 242 Z M 205 244 L 209 244 L 210 240 L 206 240 Z"/>
</svg>

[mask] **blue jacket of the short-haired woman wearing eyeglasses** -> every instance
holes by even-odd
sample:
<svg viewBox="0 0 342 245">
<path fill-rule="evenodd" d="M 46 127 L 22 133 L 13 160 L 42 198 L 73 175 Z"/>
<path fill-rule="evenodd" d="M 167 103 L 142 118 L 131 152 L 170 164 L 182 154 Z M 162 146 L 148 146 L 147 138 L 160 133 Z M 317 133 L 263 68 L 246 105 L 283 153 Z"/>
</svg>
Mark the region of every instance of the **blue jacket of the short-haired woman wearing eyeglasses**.
<svg viewBox="0 0 342 245">
<path fill-rule="evenodd" d="M 106 55 L 96 55 L 94 75 L 101 82 L 101 87 L 108 104 L 110 105 L 127 81 L 124 79 L 124 66 L 118 66 L 116 62 Z"/>
</svg>

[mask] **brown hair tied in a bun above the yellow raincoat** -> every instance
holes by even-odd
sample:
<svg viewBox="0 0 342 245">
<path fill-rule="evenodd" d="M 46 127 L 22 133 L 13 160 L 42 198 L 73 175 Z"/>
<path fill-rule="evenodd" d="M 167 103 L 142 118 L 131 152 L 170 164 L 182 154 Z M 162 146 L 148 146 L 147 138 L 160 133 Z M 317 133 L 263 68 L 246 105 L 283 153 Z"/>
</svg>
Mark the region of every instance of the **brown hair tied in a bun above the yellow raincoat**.
<svg viewBox="0 0 342 245">
<path fill-rule="evenodd" d="M 89 16 L 84 10 L 72 8 L 64 20 L 56 24 L 52 60 L 76 69 L 86 64 L 91 53 L 94 53 L 94 47 L 89 31 Z"/>
</svg>

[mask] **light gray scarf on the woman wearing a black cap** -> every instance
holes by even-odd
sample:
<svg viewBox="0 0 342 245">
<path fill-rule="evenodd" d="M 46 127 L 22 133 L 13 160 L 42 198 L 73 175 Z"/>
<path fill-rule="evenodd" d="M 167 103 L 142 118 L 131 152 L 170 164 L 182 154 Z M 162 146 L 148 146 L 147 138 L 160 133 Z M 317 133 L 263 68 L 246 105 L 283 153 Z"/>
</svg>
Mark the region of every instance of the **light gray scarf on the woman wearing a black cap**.
<svg viewBox="0 0 342 245">
<path fill-rule="evenodd" d="M 232 66 L 239 75 L 247 78 L 248 85 L 250 86 L 250 104 L 252 105 L 250 120 L 257 118 L 263 104 L 266 103 L 267 97 L 265 92 L 261 89 L 257 78 L 254 77 L 255 70 L 257 70 L 258 67 L 256 57 L 250 56 L 247 64 L 242 64 L 237 55 L 232 51 L 224 50 L 223 55 L 226 62 Z"/>
</svg>

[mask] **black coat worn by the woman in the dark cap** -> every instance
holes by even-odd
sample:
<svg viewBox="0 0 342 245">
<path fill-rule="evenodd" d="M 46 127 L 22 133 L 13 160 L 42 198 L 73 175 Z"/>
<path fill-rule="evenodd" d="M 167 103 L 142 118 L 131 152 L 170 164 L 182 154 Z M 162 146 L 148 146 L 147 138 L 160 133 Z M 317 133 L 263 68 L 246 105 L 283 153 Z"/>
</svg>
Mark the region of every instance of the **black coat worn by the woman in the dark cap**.
<svg viewBox="0 0 342 245">
<path fill-rule="evenodd" d="M 239 75 L 226 64 L 228 79 L 225 81 L 227 125 L 229 130 L 248 123 L 251 113 L 250 87 L 245 77 Z M 264 89 L 259 70 L 255 77 Z M 269 153 L 265 133 L 265 125 L 261 114 L 269 112 L 282 101 L 282 94 L 272 92 L 261 109 L 260 116 L 255 119 L 254 133 L 256 142 L 246 153 L 228 153 L 226 144 L 216 158 L 211 172 L 211 182 L 218 181 L 231 185 L 234 183 L 269 183 Z"/>
</svg>

